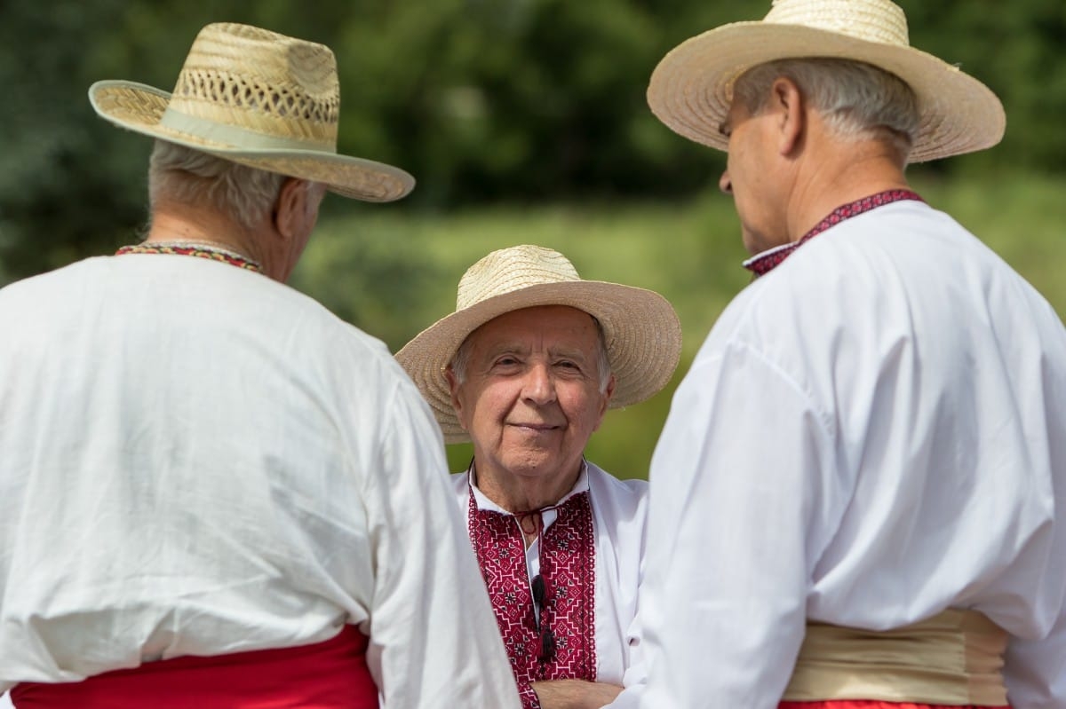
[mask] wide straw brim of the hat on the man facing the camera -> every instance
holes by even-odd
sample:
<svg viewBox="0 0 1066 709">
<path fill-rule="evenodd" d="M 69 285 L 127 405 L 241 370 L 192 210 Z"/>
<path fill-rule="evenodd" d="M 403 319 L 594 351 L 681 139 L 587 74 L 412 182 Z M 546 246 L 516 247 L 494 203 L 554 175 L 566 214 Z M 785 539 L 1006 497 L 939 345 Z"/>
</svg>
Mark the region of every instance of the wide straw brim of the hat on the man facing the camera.
<svg viewBox="0 0 1066 709">
<path fill-rule="evenodd" d="M 445 377 L 456 350 L 471 332 L 494 317 L 536 306 L 569 306 L 600 321 L 615 377 L 612 409 L 639 403 L 658 393 L 677 368 L 681 325 L 669 302 L 653 291 L 602 281 L 564 281 L 486 298 L 437 320 L 395 356 L 433 409 L 446 443 L 470 440 L 452 408 Z"/>
</svg>

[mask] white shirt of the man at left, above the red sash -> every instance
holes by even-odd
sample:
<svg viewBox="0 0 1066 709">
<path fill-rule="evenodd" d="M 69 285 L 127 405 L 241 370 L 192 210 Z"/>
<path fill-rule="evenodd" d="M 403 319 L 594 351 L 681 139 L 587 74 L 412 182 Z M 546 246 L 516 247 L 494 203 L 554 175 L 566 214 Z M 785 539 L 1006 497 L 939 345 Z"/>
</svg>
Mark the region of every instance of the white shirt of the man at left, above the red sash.
<svg viewBox="0 0 1066 709">
<path fill-rule="evenodd" d="M 384 344 L 160 254 L 12 284 L 0 333 L 0 692 L 350 623 L 384 707 L 519 706 L 439 429 Z"/>
</svg>

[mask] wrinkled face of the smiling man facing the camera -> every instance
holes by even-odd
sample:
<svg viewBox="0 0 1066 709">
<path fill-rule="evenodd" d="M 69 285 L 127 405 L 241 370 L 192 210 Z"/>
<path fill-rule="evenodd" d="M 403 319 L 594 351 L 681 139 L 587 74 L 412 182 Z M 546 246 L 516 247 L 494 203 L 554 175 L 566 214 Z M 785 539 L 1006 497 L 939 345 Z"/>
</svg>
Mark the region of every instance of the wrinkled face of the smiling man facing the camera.
<svg viewBox="0 0 1066 709">
<path fill-rule="evenodd" d="M 470 334 L 465 379 L 450 381 L 479 476 L 548 487 L 579 469 L 614 390 L 612 378 L 599 391 L 598 337 L 591 315 L 565 306 L 506 313 Z"/>
</svg>

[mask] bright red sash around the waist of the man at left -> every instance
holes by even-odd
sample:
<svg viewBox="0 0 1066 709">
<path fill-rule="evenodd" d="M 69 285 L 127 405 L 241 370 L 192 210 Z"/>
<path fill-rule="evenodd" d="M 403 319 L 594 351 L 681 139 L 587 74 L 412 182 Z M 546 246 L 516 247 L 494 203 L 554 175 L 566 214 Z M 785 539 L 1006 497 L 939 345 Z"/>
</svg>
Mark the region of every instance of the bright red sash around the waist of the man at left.
<svg viewBox="0 0 1066 709">
<path fill-rule="evenodd" d="M 80 682 L 21 682 L 17 709 L 377 709 L 369 641 L 345 625 L 312 645 L 178 657 Z"/>
</svg>

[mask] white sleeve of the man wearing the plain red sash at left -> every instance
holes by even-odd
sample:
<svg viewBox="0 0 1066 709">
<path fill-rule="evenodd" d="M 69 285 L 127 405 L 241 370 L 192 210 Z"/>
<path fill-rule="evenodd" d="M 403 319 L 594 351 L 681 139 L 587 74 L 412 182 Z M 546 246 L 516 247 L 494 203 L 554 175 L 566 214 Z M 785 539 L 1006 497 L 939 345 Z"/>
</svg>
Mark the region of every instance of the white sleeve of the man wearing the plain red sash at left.
<svg viewBox="0 0 1066 709">
<path fill-rule="evenodd" d="M 414 386 L 398 388 L 381 430 L 366 505 L 375 566 L 368 659 L 382 707 L 518 709 L 440 431 Z"/>
</svg>

